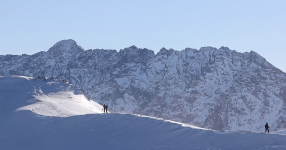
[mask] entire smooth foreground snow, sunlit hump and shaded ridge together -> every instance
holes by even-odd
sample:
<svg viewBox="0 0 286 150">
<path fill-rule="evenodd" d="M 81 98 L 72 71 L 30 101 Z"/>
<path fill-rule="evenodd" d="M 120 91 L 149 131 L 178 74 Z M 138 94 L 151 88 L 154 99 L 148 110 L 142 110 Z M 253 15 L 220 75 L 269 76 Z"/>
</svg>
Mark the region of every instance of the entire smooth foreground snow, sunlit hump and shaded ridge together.
<svg viewBox="0 0 286 150">
<path fill-rule="evenodd" d="M 103 113 L 82 90 L 53 78 L 0 77 L 0 120 L 0 149 L 286 149 L 284 130 L 218 131 Z"/>
</svg>

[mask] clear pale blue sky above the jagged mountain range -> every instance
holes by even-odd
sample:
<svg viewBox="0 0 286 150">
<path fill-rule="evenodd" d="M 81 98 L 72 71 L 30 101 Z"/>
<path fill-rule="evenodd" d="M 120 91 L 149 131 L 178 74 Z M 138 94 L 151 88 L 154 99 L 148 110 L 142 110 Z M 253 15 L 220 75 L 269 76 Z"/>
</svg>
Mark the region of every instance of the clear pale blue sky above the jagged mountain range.
<svg viewBox="0 0 286 150">
<path fill-rule="evenodd" d="M 286 0 L 1 0 L 0 54 L 74 39 L 85 49 L 227 46 L 286 72 Z"/>
</svg>

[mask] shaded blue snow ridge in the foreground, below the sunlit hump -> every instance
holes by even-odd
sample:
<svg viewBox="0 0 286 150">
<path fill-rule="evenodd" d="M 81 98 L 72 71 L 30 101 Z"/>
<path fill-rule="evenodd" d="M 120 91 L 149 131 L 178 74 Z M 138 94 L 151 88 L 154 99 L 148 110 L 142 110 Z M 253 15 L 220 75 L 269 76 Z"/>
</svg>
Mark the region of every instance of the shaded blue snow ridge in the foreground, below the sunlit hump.
<svg viewBox="0 0 286 150">
<path fill-rule="evenodd" d="M 198 129 L 132 114 L 47 117 L 20 111 L 0 125 L 0 149 L 286 148 L 281 134 Z"/>
</svg>

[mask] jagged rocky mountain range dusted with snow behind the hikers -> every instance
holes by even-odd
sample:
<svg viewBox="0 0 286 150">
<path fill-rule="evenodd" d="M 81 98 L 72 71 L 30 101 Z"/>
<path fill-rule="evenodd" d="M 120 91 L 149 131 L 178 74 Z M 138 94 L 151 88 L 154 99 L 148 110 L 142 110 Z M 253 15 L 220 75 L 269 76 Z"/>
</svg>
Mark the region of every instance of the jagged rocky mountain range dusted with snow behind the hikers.
<svg viewBox="0 0 286 150">
<path fill-rule="evenodd" d="M 0 75 L 67 79 L 116 112 L 219 130 L 286 128 L 286 73 L 254 51 L 84 50 L 69 39 L 47 52 L 0 55 Z"/>
</svg>

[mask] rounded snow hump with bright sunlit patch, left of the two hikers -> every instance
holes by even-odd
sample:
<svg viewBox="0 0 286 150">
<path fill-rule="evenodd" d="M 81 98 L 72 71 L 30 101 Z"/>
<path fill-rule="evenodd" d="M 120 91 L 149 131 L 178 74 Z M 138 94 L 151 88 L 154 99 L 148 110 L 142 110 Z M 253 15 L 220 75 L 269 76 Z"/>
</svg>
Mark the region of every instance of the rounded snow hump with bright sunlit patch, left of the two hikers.
<svg viewBox="0 0 286 150">
<path fill-rule="evenodd" d="M 101 113 L 102 106 L 85 96 L 83 90 L 55 78 L 0 77 L 0 105 L 3 113 L 32 110 L 47 116 Z"/>
</svg>

